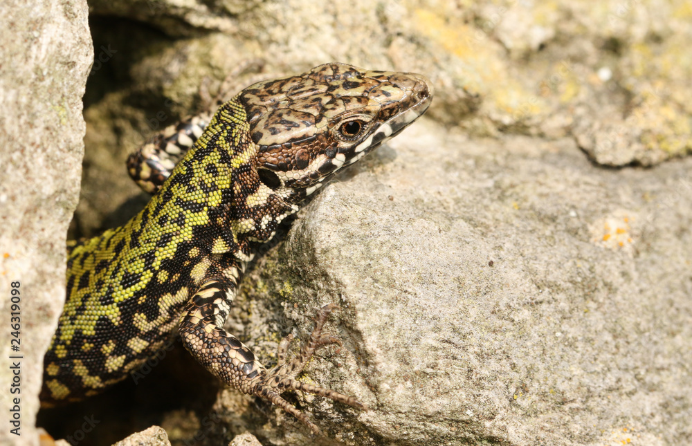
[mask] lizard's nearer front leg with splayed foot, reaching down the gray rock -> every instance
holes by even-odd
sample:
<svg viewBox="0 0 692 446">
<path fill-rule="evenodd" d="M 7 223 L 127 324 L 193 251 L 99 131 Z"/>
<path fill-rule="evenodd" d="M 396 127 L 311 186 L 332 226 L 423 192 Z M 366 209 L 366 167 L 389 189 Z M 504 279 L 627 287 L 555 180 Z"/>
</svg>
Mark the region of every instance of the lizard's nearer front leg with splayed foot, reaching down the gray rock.
<svg viewBox="0 0 692 446">
<path fill-rule="evenodd" d="M 183 345 L 208 371 L 244 393 L 273 402 L 315 433 L 319 432 L 318 427 L 281 398 L 281 393 L 289 389 L 300 390 L 365 409 L 365 405 L 356 398 L 295 379 L 316 349 L 338 343 L 335 337 L 322 335 L 322 327 L 336 305 L 330 304 L 320 309 L 316 327 L 308 342 L 289 362 L 286 362 L 286 351 L 291 337 L 284 339 L 279 346 L 278 364 L 267 370 L 248 346 L 223 328 L 232 299 L 232 287 L 224 286 L 220 281 L 208 281 L 190 299 L 181 315 L 179 331 Z"/>
</svg>

